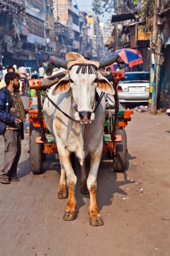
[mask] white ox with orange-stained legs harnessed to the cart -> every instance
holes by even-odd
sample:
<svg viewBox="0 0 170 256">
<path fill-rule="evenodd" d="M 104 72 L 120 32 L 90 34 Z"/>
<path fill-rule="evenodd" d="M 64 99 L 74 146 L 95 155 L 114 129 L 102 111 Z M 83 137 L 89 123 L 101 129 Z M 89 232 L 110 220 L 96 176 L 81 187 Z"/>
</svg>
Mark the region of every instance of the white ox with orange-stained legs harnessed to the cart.
<svg viewBox="0 0 170 256">
<path fill-rule="evenodd" d="M 81 165 L 81 193 L 90 194 L 89 223 L 92 226 L 101 226 L 103 220 L 99 214 L 95 192 L 97 189 L 97 172 L 103 150 L 105 99 L 101 100 L 95 113 L 93 110 L 96 103 L 96 90 L 114 95 L 114 89 L 108 79 L 105 79 L 97 71 L 99 67 L 97 61 L 87 61 L 77 53 L 67 53 L 67 60 L 69 60 L 67 65 L 70 68 L 69 73 L 60 79 L 58 84 L 52 86 L 48 96 L 61 110 L 77 122 L 65 117 L 48 102 L 48 99 L 44 101 L 43 106 L 44 119 L 50 133 L 56 137 L 60 158 L 61 176 L 58 198 L 67 197 L 68 187 L 69 198 L 63 220 L 75 220 L 77 177 L 70 158 L 71 152 L 74 152 Z M 55 64 L 54 59 L 53 63 Z M 85 157 L 88 154 L 91 156 L 91 164 L 89 176 L 86 177 Z"/>
</svg>

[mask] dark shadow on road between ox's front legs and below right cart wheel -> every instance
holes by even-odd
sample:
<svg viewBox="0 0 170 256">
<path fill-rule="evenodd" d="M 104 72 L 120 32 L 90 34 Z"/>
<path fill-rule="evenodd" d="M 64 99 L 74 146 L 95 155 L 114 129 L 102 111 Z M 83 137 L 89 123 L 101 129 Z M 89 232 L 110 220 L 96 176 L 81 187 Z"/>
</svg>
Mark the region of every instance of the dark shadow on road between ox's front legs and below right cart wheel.
<svg viewBox="0 0 170 256">
<path fill-rule="evenodd" d="M 124 189 L 122 189 L 121 187 L 126 184 L 134 183 L 134 181 L 130 181 L 127 177 L 129 160 L 132 160 L 134 158 L 136 157 L 130 156 L 129 153 L 127 154 L 126 170 L 122 174 L 120 174 L 114 171 L 112 160 L 108 160 L 108 158 L 105 157 L 105 154 L 103 154 L 97 176 L 97 205 L 99 207 L 99 210 L 101 210 L 105 205 L 111 205 L 114 199 L 114 195 L 116 193 L 125 196 L 127 195 L 126 191 L 124 191 Z M 90 159 L 87 157 L 87 170 L 89 170 L 89 160 Z M 82 195 L 80 193 L 81 175 L 78 162 L 75 173 L 77 175 L 77 189 L 75 196 L 77 199 L 77 212 L 79 212 L 79 209 L 83 205 L 85 205 L 83 199 L 89 198 L 89 195 Z"/>
</svg>

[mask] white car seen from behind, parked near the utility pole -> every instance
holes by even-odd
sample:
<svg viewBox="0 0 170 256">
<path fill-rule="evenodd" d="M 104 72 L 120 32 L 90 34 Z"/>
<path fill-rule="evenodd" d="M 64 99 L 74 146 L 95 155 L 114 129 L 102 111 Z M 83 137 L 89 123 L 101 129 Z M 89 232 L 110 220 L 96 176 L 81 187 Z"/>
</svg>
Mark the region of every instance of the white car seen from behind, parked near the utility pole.
<svg viewBox="0 0 170 256">
<path fill-rule="evenodd" d="M 118 85 L 119 102 L 148 102 L 149 81 L 149 72 L 126 72 Z"/>
</svg>

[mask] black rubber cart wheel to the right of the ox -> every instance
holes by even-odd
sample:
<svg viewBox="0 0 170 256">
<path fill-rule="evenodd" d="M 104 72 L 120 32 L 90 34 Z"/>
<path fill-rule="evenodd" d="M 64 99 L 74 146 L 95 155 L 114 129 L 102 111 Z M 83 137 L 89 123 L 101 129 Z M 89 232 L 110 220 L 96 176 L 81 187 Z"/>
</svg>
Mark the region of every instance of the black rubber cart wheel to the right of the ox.
<svg viewBox="0 0 170 256">
<path fill-rule="evenodd" d="M 127 138 L 124 129 L 118 129 L 116 135 L 122 135 L 122 141 L 116 143 L 116 160 L 114 160 L 114 170 L 124 172 L 126 168 Z"/>
</svg>

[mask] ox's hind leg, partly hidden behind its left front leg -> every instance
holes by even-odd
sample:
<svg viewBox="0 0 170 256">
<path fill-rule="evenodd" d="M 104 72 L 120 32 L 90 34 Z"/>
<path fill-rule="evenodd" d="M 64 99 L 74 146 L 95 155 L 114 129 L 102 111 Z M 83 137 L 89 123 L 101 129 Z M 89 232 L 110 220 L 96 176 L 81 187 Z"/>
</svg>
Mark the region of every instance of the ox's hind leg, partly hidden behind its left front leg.
<svg viewBox="0 0 170 256">
<path fill-rule="evenodd" d="M 67 184 L 65 177 L 65 168 L 60 161 L 60 183 L 58 187 L 58 199 L 67 198 Z"/>
</svg>

